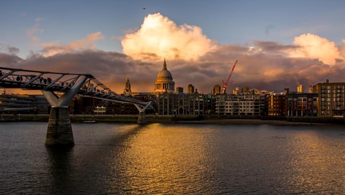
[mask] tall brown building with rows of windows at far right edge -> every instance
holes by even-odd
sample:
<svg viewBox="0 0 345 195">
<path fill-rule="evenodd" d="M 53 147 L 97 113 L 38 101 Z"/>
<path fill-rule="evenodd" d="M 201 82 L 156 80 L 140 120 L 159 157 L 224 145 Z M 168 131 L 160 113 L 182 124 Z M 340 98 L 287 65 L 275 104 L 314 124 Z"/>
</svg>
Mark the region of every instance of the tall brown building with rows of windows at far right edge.
<svg viewBox="0 0 345 195">
<path fill-rule="evenodd" d="M 343 117 L 345 112 L 345 83 L 318 83 L 313 86 L 318 94 L 318 115 L 322 117 Z"/>
</svg>

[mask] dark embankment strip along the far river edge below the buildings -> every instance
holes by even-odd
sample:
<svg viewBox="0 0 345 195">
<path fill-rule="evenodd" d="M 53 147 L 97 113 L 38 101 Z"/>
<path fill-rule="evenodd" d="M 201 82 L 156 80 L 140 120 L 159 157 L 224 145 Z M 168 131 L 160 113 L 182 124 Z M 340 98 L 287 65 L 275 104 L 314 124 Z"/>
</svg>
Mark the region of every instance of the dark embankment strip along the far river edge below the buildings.
<svg viewBox="0 0 345 195">
<path fill-rule="evenodd" d="M 119 114 L 71 114 L 72 122 L 83 121 L 136 123 L 137 115 Z M 0 114 L 0 122 L 48 122 L 49 114 Z M 198 123 L 198 124 L 250 124 L 250 125 L 317 125 L 317 124 L 345 124 L 343 118 L 319 117 L 268 117 L 268 116 L 198 116 L 198 115 L 154 115 L 147 114 L 148 123 Z"/>
</svg>

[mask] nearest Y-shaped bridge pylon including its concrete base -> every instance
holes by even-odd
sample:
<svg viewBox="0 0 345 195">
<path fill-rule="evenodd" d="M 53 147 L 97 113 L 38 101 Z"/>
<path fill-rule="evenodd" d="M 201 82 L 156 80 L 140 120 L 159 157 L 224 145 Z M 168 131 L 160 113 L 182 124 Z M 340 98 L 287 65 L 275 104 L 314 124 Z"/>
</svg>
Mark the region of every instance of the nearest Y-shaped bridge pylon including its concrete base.
<svg viewBox="0 0 345 195">
<path fill-rule="evenodd" d="M 42 91 L 43 95 L 51 105 L 46 145 L 74 145 L 68 105 L 70 105 L 74 96 L 85 84 L 87 79 L 87 76 L 80 76 L 76 84 L 61 97 L 58 97 L 51 91 Z"/>
</svg>

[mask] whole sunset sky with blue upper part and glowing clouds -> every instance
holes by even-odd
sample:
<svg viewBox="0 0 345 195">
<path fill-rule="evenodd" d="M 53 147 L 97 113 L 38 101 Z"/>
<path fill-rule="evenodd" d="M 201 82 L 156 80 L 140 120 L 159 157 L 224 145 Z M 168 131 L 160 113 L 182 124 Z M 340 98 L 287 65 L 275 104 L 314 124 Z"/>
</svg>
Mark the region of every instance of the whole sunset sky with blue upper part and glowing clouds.
<svg viewBox="0 0 345 195">
<path fill-rule="evenodd" d="M 294 91 L 342 81 L 343 13 L 344 1 L 1 1 L 0 64 L 150 92 L 165 57 L 176 87 L 209 93 L 238 60 L 230 89 Z"/>
</svg>

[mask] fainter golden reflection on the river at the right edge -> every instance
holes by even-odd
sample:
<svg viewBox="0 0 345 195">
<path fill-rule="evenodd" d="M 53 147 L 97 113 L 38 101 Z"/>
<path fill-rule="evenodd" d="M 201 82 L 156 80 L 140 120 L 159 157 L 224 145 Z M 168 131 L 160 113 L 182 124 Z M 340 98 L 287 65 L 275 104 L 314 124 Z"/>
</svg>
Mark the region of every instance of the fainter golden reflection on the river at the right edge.
<svg viewBox="0 0 345 195">
<path fill-rule="evenodd" d="M 334 149 L 337 147 L 338 149 Z M 288 144 L 290 172 L 286 182 L 291 186 L 294 193 L 314 192 L 310 186 L 328 186 L 323 192 L 343 188 L 343 183 L 336 181 L 344 180 L 345 168 L 341 161 L 345 145 L 338 143 L 334 137 L 320 137 L 318 131 L 298 132 Z M 340 169 L 340 172 L 339 172 Z M 331 173 L 330 173 L 331 172 Z"/>
</svg>

